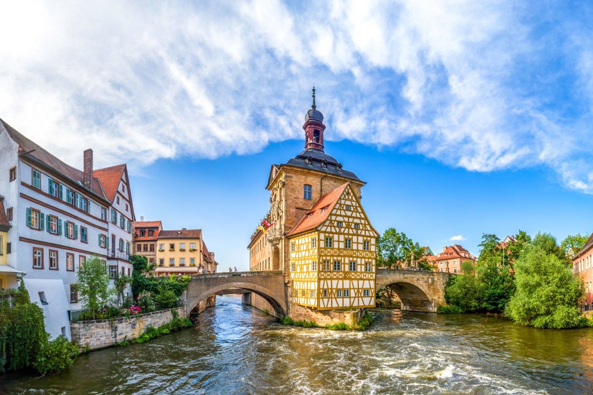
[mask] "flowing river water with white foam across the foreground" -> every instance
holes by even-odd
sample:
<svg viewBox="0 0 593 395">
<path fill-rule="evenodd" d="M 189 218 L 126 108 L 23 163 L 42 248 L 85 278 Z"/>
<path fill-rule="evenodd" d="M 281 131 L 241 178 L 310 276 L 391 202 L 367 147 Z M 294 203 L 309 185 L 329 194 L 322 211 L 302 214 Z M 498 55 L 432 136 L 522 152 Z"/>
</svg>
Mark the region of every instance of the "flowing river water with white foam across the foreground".
<svg viewBox="0 0 593 395">
<path fill-rule="evenodd" d="M 593 394 L 593 329 L 371 310 L 366 332 L 283 326 L 219 296 L 192 329 L 0 375 L 9 394 Z"/>
</svg>

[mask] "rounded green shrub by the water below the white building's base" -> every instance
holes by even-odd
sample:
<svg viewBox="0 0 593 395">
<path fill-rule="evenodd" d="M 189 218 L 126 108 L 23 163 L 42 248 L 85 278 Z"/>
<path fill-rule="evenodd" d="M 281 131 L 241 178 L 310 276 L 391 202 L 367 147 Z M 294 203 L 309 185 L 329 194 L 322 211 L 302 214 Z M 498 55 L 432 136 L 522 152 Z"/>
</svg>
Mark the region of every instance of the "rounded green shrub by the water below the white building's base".
<svg viewBox="0 0 593 395">
<path fill-rule="evenodd" d="M 74 364 L 76 355 L 76 345 L 69 342 L 66 336 L 60 335 L 42 345 L 33 367 L 42 375 L 61 372 Z"/>
</svg>

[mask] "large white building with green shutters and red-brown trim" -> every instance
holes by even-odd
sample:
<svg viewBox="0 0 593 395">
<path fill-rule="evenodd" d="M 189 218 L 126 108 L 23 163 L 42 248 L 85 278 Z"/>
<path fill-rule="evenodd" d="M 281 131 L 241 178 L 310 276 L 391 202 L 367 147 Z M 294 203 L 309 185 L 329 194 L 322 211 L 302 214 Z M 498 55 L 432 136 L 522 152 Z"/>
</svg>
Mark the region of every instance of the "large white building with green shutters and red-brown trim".
<svg viewBox="0 0 593 395">
<path fill-rule="evenodd" d="M 132 273 L 135 217 L 126 165 L 93 171 L 89 149 L 80 171 L 0 119 L 0 195 L 11 224 L 7 265 L 26 273 L 47 332 L 70 338 L 68 311 L 82 309 L 74 285 L 79 266 L 96 255 L 113 277 Z"/>
</svg>

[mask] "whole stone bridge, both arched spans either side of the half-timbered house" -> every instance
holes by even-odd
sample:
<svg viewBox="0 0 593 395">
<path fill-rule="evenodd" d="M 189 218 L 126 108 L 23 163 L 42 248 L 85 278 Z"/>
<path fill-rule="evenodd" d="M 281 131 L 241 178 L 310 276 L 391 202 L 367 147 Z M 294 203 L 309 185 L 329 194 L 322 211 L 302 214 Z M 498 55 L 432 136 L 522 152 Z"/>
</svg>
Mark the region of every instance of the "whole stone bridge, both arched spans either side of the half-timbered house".
<svg viewBox="0 0 593 395">
<path fill-rule="evenodd" d="M 401 310 L 435 312 L 439 305 L 445 304 L 448 280 L 449 274 L 442 272 L 377 269 L 377 289 L 387 286 L 394 290 L 401 299 Z M 278 270 L 192 275 L 186 291 L 187 316 L 213 306 L 216 294 L 244 293 L 244 303 L 251 304 L 246 291 L 262 297 L 274 316 L 290 315 L 291 290 Z"/>
</svg>

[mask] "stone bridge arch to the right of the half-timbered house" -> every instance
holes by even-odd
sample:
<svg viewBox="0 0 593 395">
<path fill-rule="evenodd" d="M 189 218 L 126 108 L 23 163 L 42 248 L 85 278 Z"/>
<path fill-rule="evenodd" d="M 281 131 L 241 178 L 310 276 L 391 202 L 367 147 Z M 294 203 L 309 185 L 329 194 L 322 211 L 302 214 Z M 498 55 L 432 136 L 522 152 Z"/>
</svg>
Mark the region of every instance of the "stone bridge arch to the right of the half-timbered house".
<svg viewBox="0 0 593 395">
<path fill-rule="evenodd" d="M 449 274 L 406 269 L 377 269 L 377 289 L 389 287 L 401 299 L 401 310 L 431 311 L 445 302 Z"/>
</svg>

